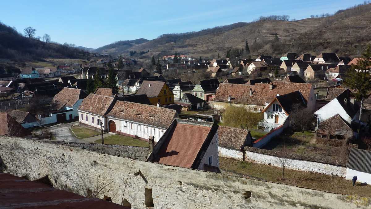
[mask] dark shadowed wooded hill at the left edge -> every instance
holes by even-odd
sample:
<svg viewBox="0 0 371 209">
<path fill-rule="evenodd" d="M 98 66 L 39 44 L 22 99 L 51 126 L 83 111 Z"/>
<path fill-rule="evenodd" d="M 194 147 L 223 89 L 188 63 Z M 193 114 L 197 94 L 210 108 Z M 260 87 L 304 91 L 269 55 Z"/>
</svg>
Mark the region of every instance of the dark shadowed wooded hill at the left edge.
<svg viewBox="0 0 371 209">
<path fill-rule="evenodd" d="M 28 38 L 0 22 L 0 58 L 14 61 L 41 58 L 83 58 L 87 52 L 69 44 L 46 43 Z"/>
</svg>

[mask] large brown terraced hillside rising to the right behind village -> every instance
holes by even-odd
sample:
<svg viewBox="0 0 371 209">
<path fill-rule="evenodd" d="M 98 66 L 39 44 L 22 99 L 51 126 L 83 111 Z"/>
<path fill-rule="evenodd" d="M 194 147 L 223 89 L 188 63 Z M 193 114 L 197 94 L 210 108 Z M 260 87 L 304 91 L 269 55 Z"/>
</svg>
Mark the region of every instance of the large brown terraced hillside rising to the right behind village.
<svg viewBox="0 0 371 209">
<path fill-rule="evenodd" d="M 332 16 L 313 17 L 296 21 L 259 20 L 235 23 L 198 32 L 165 34 L 156 39 L 129 48 L 105 46 L 105 51 L 128 54 L 129 51 L 147 51 L 143 57 L 187 54 L 193 57 L 217 57 L 234 49 L 236 53 L 249 42 L 253 56 L 270 54 L 280 56 L 286 52 L 336 52 L 339 55 L 359 55 L 370 43 L 371 4 L 339 10 Z M 275 35 L 279 40 L 275 39 Z M 234 54 L 236 54 L 234 53 Z"/>
</svg>

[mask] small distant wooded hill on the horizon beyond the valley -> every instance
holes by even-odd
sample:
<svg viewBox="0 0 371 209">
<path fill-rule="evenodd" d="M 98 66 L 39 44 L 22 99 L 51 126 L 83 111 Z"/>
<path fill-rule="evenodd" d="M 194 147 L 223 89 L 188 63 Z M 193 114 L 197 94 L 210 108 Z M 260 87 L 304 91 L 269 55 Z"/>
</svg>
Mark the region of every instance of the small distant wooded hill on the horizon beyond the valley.
<svg viewBox="0 0 371 209">
<path fill-rule="evenodd" d="M 139 44 L 143 44 L 148 42 L 147 39 L 139 38 L 135 40 L 126 40 L 126 41 L 116 41 L 112 44 L 108 44 L 102 47 L 99 47 L 93 52 L 98 52 L 99 54 L 121 54 L 124 51 L 127 51 L 129 48 L 132 48 L 134 46 L 137 46 Z"/>
</svg>

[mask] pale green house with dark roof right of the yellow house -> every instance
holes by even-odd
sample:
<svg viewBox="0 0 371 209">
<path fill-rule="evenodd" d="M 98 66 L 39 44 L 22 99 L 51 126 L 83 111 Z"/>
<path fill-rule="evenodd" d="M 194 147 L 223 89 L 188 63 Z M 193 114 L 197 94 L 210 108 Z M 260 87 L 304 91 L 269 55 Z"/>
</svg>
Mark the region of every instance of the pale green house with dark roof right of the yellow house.
<svg viewBox="0 0 371 209">
<path fill-rule="evenodd" d="M 211 101 L 215 97 L 219 81 L 216 78 L 199 81 L 193 88 L 192 93 L 200 99 Z"/>
</svg>

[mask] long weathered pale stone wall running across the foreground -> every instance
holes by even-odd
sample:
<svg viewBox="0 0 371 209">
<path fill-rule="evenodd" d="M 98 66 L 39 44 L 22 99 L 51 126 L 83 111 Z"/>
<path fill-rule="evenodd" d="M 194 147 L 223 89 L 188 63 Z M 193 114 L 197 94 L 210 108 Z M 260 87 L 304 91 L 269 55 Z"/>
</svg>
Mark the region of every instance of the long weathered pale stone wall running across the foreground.
<svg viewBox="0 0 371 209">
<path fill-rule="evenodd" d="M 0 170 L 54 187 L 145 208 L 367 208 L 370 198 L 334 194 L 267 181 L 0 136 Z M 134 173 L 141 171 L 137 176 Z M 98 192 L 100 191 L 100 192 Z M 125 193 L 124 193 L 125 192 Z M 152 194 L 151 194 L 152 193 Z M 147 200 L 147 201 L 145 201 Z"/>
</svg>

